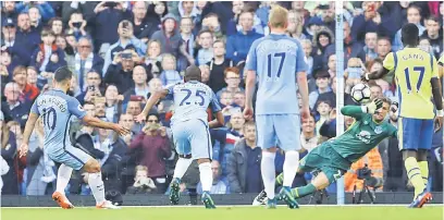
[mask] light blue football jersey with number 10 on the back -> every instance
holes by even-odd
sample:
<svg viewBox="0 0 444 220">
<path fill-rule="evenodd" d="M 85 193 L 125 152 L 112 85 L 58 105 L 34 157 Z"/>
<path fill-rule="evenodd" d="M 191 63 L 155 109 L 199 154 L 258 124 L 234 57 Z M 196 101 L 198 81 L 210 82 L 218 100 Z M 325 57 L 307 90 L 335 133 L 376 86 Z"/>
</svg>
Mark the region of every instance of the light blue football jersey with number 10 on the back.
<svg viewBox="0 0 444 220">
<path fill-rule="evenodd" d="M 45 148 L 51 154 L 63 151 L 71 146 L 70 122 L 72 117 L 86 115 L 81 103 L 59 89 L 46 91 L 37 97 L 30 112 L 41 117 L 45 130 Z"/>
</svg>

